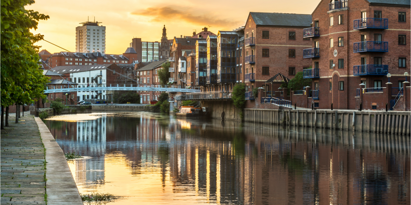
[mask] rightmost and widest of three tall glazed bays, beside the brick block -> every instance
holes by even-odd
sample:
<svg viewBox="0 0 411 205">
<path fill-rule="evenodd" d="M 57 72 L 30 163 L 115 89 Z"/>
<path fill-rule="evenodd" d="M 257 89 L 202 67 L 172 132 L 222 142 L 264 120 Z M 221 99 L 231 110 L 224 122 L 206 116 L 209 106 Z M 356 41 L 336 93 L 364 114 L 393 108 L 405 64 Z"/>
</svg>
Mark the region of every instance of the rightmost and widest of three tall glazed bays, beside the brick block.
<svg viewBox="0 0 411 205">
<path fill-rule="evenodd" d="M 236 82 L 237 36 L 220 34 L 217 38 L 217 83 Z"/>
</svg>

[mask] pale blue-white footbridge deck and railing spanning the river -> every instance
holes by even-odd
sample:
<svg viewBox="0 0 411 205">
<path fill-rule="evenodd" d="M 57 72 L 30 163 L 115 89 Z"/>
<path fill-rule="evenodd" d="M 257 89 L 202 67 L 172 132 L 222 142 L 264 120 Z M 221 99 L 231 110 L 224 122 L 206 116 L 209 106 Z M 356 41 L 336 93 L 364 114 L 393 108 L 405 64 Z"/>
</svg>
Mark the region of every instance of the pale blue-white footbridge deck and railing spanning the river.
<svg viewBox="0 0 411 205">
<path fill-rule="evenodd" d="M 71 88 L 63 88 L 63 86 L 60 86 L 58 88 L 57 86 L 54 87 L 54 89 L 48 89 L 44 90 L 44 93 L 61 93 L 61 92 L 80 92 L 80 91 L 161 91 L 161 92 L 181 92 L 181 93 L 197 93 L 201 92 L 201 90 L 198 89 L 185 89 L 185 88 L 171 88 L 167 87 L 167 85 L 164 85 L 164 87 L 161 87 L 159 85 L 154 85 L 154 86 L 135 86 L 131 84 L 130 86 L 126 87 L 124 85 L 123 87 L 119 87 L 118 84 L 116 87 L 74 87 L 72 86 Z M 99 93 L 100 93 L 99 92 Z"/>
</svg>

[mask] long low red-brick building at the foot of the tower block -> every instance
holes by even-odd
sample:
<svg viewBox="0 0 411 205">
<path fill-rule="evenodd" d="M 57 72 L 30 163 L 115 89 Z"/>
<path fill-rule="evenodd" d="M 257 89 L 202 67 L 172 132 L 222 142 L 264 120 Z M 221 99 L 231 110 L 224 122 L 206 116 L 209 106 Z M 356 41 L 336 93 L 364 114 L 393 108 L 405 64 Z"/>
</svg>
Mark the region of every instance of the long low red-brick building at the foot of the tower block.
<svg viewBox="0 0 411 205">
<path fill-rule="evenodd" d="M 121 67 L 133 67 L 133 63 L 136 60 L 137 52 L 134 48 L 127 48 L 122 55 L 102 54 L 101 52 L 57 52 L 48 57 L 48 66 L 44 68 L 50 69 L 50 67 L 54 68 L 56 66 L 103 65 L 112 63 L 118 64 Z"/>
</svg>

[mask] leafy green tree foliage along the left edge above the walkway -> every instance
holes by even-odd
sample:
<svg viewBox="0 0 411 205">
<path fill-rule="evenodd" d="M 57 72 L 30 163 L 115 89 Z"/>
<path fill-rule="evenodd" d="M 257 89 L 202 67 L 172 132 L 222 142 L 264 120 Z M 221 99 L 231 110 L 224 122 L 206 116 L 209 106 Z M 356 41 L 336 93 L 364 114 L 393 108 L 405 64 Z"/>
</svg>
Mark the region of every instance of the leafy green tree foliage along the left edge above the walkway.
<svg viewBox="0 0 411 205">
<path fill-rule="evenodd" d="M 49 16 L 24 7 L 33 0 L 1 0 L 1 105 L 32 103 L 35 98 L 44 98 L 44 85 L 48 82 L 40 70 L 37 54 L 39 46 L 33 44 L 43 39 L 30 29 L 37 29 L 39 20 Z"/>
</svg>

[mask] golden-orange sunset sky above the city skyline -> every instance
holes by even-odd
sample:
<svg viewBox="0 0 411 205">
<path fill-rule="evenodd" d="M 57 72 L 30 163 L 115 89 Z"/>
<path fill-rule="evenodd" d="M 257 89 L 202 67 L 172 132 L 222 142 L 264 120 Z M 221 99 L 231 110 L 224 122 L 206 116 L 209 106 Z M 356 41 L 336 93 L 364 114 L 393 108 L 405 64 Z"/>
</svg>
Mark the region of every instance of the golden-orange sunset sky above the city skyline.
<svg viewBox="0 0 411 205">
<path fill-rule="evenodd" d="M 209 27 L 217 34 L 219 30 L 233 30 L 245 24 L 250 11 L 311 14 L 320 0 L 120 0 L 120 1 L 55 1 L 36 0 L 26 7 L 50 16 L 40 21 L 33 34 L 42 34 L 44 39 L 71 52 L 76 50 L 76 27 L 81 22 L 102 22 L 106 26 L 106 53 L 123 53 L 133 37 L 142 41 L 160 41 L 163 25 L 168 39 L 180 35 L 191 36 L 196 30 Z M 49 52 L 63 51 L 46 41 L 36 43 Z"/>
</svg>

